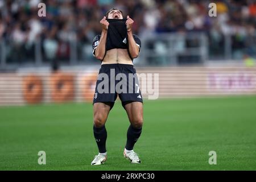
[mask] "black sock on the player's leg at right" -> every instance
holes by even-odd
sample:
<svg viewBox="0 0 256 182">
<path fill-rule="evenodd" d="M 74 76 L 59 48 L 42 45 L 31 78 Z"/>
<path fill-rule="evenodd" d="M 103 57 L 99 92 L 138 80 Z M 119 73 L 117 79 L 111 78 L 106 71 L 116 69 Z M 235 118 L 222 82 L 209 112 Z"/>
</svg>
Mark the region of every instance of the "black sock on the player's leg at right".
<svg viewBox="0 0 256 182">
<path fill-rule="evenodd" d="M 126 142 L 126 150 L 133 150 L 134 144 L 137 142 L 139 136 L 141 136 L 142 127 L 137 129 L 133 126 L 129 126 L 127 130 L 127 142 Z"/>
</svg>

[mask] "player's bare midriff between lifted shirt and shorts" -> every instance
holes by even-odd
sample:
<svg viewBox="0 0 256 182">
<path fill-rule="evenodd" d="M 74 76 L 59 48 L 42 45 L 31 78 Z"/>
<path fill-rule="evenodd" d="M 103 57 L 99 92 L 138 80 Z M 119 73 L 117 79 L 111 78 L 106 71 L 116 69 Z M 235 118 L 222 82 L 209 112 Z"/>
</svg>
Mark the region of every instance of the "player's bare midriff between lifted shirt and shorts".
<svg viewBox="0 0 256 182">
<path fill-rule="evenodd" d="M 102 64 L 131 64 L 133 65 L 133 61 L 131 60 L 128 49 L 110 49 L 106 52 L 104 59 L 102 60 Z"/>
</svg>

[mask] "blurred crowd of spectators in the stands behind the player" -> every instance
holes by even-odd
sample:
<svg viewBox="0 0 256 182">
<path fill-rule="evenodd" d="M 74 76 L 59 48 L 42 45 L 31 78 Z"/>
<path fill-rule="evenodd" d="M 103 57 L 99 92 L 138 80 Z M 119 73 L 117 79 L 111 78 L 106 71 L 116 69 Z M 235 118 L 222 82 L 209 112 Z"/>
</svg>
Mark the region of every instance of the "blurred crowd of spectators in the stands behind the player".
<svg viewBox="0 0 256 182">
<path fill-rule="evenodd" d="M 38 16 L 38 4 L 46 3 L 46 17 Z M 44 60 L 65 60 L 71 41 L 77 41 L 79 55 L 91 55 L 92 39 L 101 34 L 100 20 L 113 6 L 134 19 L 139 36 L 162 32 L 205 32 L 210 53 L 223 51 L 230 35 L 234 58 L 256 55 L 256 2 L 216 1 L 217 17 L 209 17 L 209 3 L 196 0 L 0 0 L 0 39 L 5 40 L 8 61 L 22 61 L 35 55 L 40 38 Z M 241 51 L 242 50 L 242 51 Z M 9 52 L 9 54 L 8 54 Z M 14 53 L 15 52 L 15 53 Z"/>
</svg>

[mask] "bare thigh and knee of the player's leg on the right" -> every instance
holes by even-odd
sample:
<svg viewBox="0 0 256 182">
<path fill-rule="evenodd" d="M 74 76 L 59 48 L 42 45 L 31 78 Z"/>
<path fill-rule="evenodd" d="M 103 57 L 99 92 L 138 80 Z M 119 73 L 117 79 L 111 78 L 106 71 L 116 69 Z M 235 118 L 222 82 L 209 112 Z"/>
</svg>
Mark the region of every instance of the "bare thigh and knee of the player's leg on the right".
<svg viewBox="0 0 256 182">
<path fill-rule="evenodd" d="M 125 105 L 125 110 L 129 121 L 135 127 L 141 127 L 143 124 L 143 104 L 142 102 L 131 102 Z"/>
</svg>

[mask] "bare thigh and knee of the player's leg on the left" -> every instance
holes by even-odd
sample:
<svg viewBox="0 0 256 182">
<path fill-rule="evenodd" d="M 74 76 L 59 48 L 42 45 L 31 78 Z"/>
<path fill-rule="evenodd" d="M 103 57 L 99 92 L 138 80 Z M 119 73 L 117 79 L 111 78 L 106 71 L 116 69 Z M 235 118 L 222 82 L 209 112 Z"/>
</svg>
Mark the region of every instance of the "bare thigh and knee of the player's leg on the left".
<svg viewBox="0 0 256 182">
<path fill-rule="evenodd" d="M 110 105 L 103 102 L 93 104 L 93 122 L 96 126 L 103 126 L 108 119 Z"/>
</svg>

